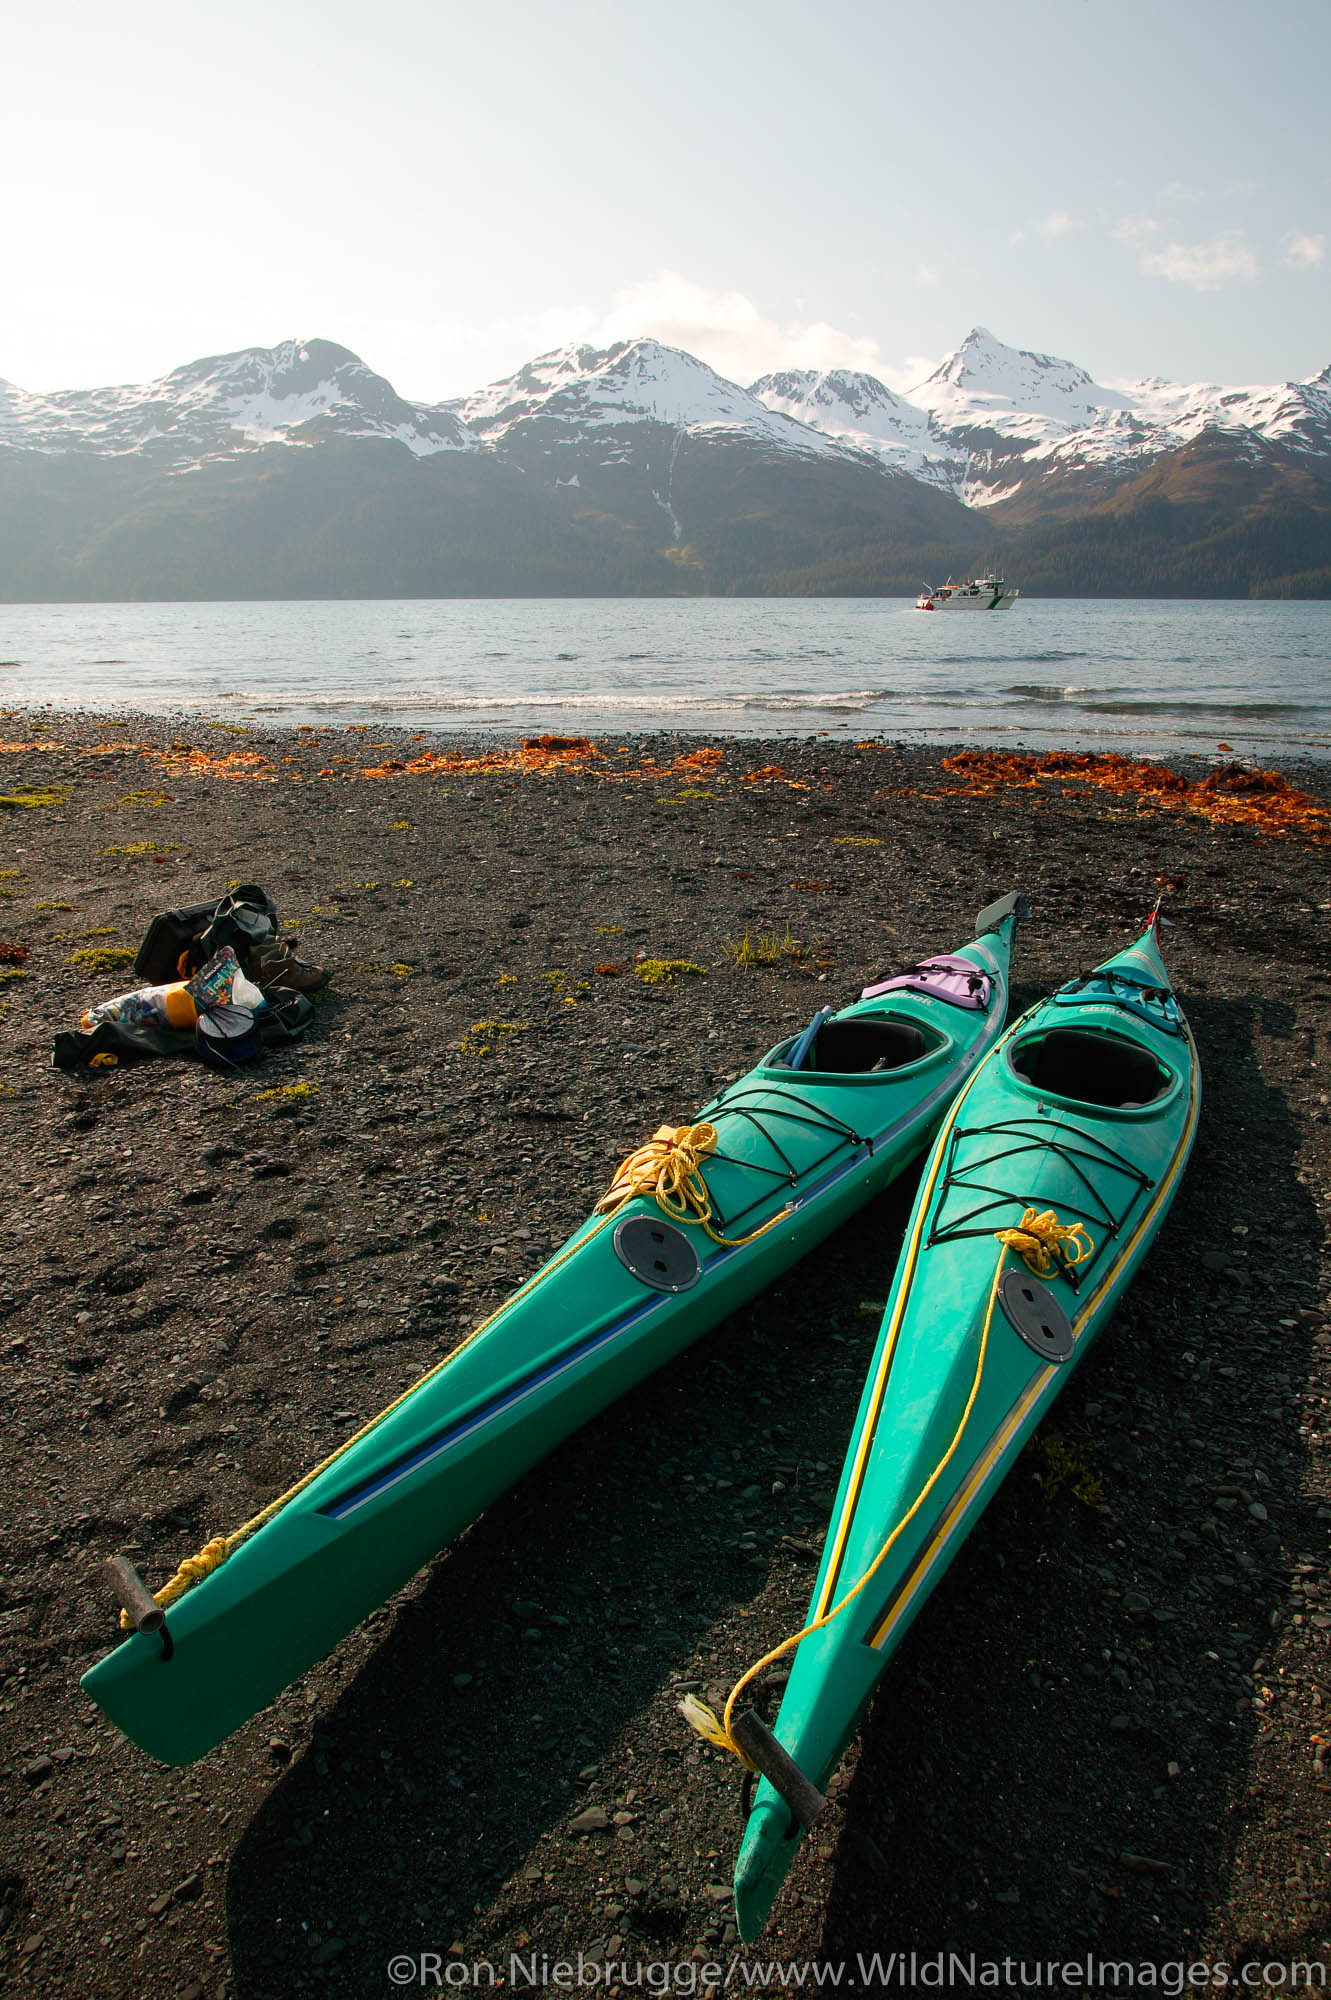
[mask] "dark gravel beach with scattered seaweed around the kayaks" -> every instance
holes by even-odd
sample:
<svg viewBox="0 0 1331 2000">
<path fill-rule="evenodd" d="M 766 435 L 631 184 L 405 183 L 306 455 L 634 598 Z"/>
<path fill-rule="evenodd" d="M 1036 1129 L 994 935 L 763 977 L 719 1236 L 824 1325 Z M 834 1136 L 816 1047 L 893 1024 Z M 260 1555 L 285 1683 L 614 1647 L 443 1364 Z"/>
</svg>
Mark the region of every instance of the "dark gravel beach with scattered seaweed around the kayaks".
<svg viewBox="0 0 1331 2000">
<path fill-rule="evenodd" d="M 1141 790 L 819 738 L 50 710 L 0 738 L 8 1988 L 911 1992 L 957 1952 L 999 1990 L 1113 1994 L 1177 1992 L 1121 1962 L 1331 1962 L 1331 766 L 1285 770 L 1303 806 L 1187 762 Z M 334 972 L 308 1038 L 238 1076 L 52 1070 L 134 984 L 88 954 L 236 880 Z M 803 1618 L 913 1176 L 202 1762 L 118 1736 L 78 1688 L 116 1636 L 106 1556 L 158 1586 L 460 1340 L 660 1122 L 1013 886 L 1017 1008 L 1165 890 L 1201 1130 L 757 1946 L 737 1768 L 675 1704 Z"/>
</svg>

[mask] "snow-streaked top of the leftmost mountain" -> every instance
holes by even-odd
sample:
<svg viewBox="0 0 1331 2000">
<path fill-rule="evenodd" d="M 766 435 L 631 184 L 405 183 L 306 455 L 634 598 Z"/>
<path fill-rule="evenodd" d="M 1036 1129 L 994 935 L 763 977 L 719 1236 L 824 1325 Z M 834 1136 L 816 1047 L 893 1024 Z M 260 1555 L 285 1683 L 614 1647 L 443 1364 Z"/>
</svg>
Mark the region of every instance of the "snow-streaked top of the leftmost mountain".
<svg viewBox="0 0 1331 2000">
<path fill-rule="evenodd" d="M 174 368 L 136 388 L 32 396 L 0 382 L 0 446 L 150 454 L 176 470 L 268 444 L 392 438 L 416 456 L 472 450 L 444 410 L 420 412 L 332 340 L 284 340 Z"/>
</svg>

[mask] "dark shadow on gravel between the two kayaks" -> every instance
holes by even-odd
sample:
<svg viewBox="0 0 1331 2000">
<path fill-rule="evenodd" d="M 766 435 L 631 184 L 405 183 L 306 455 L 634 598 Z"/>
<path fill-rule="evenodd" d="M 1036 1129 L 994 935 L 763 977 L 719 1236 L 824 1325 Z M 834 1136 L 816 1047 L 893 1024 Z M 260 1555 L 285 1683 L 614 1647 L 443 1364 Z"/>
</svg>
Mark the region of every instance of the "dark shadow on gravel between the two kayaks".
<svg viewBox="0 0 1331 2000">
<path fill-rule="evenodd" d="M 739 1842 L 739 1772 L 727 1758 L 699 1768 L 675 1702 L 699 1684 L 723 1694 L 747 1664 L 747 1628 L 715 1628 L 747 1616 L 773 1564 L 791 1604 L 807 1596 L 913 1186 L 911 1170 L 570 1438 L 370 1620 L 384 1642 L 238 1844 L 240 2000 L 288 1992 L 312 1964 L 324 1992 L 378 1990 L 390 1952 L 454 1940 L 496 1962 L 524 1934 L 590 1948 L 608 1936 L 600 1864 L 644 1876 L 612 1924 L 630 1956 L 689 1956 L 717 1918 L 703 1884 Z M 600 1766 L 622 1738 L 638 1752 L 612 1780 Z M 632 1826 L 568 1834 L 628 1790 L 650 1838 L 667 1808 L 695 1882 L 660 1852 L 648 1862 Z"/>
</svg>

